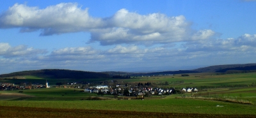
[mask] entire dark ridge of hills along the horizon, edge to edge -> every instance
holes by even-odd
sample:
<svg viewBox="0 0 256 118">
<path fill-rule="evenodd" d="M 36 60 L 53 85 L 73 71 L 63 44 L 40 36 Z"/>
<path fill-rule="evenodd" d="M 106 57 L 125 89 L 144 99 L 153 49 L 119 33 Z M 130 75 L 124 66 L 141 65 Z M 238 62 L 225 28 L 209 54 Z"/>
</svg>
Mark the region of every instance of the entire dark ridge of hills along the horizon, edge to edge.
<svg viewBox="0 0 256 118">
<path fill-rule="evenodd" d="M 58 69 L 46 69 L 46 70 L 30 70 L 30 71 L 18 71 L 9 74 L 0 75 L 0 78 L 7 77 L 23 77 L 26 75 L 34 75 L 37 77 L 45 78 L 113 78 L 116 75 L 123 77 L 130 76 L 151 76 L 151 75 L 174 75 L 183 73 L 244 73 L 256 71 L 256 64 L 226 64 L 217 66 L 208 66 L 204 68 L 198 68 L 196 70 L 179 70 L 179 71 L 159 71 L 150 73 L 131 73 L 123 71 L 105 71 L 105 72 L 91 72 L 91 71 L 76 71 L 76 70 L 58 70 Z"/>
</svg>

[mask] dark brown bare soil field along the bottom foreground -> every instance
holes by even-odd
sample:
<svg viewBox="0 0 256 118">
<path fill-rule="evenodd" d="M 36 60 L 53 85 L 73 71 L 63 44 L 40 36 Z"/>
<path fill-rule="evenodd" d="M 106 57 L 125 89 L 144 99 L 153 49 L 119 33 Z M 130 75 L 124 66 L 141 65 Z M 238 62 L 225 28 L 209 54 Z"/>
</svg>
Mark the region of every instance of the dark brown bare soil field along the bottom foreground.
<svg viewBox="0 0 256 118">
<path fill-rule="evenodd" d="M 127 112 L 115 110 L 81 110 L 64 108 L 32 108 L 32 107 L 3 107 L 0 106 L 0 117 L 256 117 L 256 115 L 222 115 L 222 114 L 178 114 L 159 112 Z"/>
</svg>

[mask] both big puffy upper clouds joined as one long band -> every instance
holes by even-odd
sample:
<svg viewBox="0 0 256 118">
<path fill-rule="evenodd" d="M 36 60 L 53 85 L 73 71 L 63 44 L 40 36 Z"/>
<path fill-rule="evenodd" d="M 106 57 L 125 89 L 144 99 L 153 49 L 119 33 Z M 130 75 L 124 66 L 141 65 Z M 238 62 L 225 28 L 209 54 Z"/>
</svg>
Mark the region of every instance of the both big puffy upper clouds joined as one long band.
<svg viewBox="0 0 256 118">
<path fill-rule="evenodd" d="M 77 3 L 60 3 L 44 9 L 14 4 L 0 15 L 0 27 L 20 27 L 20 32 L 42 31 L 40 35 L 74 32 L 91 33 L 90 42 L 101 45 L 137 43 L 154 45 L 180 41 L 205 40 L 214 31 L 195 31 L 182 15 L 169 17 L 162 13 L 141 15 L 126 9 L 116 11 L 108 18 L 93 18 L 88 8 Z"/>
</svg>

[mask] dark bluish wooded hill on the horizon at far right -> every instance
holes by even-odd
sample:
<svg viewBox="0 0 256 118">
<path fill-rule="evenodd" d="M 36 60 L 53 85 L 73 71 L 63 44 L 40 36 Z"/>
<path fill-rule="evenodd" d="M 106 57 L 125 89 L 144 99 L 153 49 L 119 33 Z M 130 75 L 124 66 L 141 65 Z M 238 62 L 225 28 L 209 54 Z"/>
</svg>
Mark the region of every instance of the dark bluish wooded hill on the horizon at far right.
<svg viewBox="0 0 256 118">
<path fill-rule="evenodd" d="M 200 73 L 215 73 L 215 72 L 224 73 L 230 70 L 237 70 L 237 71 L 256 70 L 256 64 L 225 64 L 225 65 L 216 65 L 216 66 L 198 68 L 192 71 L 198 71 Z"/>
</svg>

